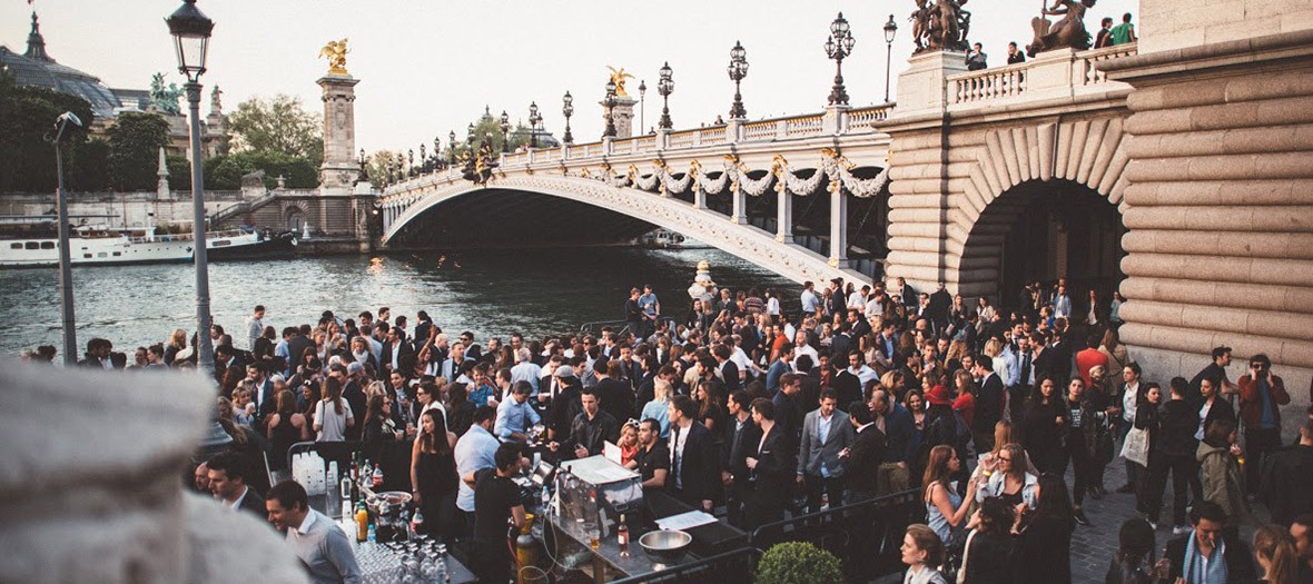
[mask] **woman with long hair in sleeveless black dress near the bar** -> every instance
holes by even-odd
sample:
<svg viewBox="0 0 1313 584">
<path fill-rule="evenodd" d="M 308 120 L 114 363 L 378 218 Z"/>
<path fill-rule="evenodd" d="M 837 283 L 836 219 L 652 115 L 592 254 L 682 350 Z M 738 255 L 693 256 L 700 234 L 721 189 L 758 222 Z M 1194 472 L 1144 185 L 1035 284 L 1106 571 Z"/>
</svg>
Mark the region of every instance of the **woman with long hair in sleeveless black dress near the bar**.
<svg viewBox="0 0 1313 584">
<path fill-rule="evenodd" d="M 448 542 L 457 534 L 456 441 L 441 411 L 420 415 L 420 432 L 411 446 L 411 495 L 424 513 L 424 532 Z"/>
</svg>

